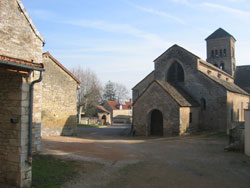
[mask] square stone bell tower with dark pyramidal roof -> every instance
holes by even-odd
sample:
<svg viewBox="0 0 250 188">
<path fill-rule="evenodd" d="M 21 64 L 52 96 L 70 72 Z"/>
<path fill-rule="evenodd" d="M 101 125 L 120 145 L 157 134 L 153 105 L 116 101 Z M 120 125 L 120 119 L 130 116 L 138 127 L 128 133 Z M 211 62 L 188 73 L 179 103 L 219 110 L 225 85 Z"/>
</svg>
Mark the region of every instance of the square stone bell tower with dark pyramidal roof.
<svg viewBox="0 0 250 188">
<path fill-rule="evenodd" d="M 217 66 L 234 77 L 235 65 L 235 38 L 219 28 L 206 39 L 207 62 Z"/>
</svg>

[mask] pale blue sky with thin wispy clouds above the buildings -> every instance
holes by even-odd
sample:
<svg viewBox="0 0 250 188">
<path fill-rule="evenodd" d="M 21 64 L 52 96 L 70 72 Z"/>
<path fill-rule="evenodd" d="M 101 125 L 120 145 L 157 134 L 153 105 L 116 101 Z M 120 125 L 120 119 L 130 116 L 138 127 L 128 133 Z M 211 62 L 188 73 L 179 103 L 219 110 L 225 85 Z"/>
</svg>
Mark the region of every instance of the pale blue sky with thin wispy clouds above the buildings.
<svg viewBox="0 0 250 188">
<path fill-rule="evenodd" d="M 69 70 L 94 71 L 129 90 L 178 44 L 206 60 L 208 37 L 233 35 L 236 64 L 250 65 L 249 0 L 22 0 L 49 51 Z"/>
</svg>

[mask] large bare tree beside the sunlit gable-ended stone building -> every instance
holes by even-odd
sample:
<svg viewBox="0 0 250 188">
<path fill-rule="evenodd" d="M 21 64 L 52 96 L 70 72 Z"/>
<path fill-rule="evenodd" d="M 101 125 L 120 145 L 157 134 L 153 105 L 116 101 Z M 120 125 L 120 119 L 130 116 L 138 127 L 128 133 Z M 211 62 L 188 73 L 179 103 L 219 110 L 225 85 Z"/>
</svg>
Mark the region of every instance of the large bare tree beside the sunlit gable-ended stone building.
<svg viewBox="0 0 250 188">
<path fill-rule="evenodd" d="M 78 113 L 86 112 L 101 100 L 102 86 L 95 72 L 78 66 L 72 73 L 81 81 L 78 90 Z"/>
</svg>

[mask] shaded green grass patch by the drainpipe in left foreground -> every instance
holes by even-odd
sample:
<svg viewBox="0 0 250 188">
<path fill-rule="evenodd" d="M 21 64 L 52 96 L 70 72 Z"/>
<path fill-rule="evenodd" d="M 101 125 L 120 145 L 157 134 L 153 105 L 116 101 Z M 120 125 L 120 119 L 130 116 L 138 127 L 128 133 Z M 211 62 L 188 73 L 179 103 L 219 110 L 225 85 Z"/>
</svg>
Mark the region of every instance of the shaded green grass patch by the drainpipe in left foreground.
<svg viewBox="0 0 250 188">
<path fill-rule="evenodd" d="M 57 159 L 50 155 L 34 155 L 32 186 L 35 188 L 59 188 L 77 174 L 77 162 Z"/>
</svg>

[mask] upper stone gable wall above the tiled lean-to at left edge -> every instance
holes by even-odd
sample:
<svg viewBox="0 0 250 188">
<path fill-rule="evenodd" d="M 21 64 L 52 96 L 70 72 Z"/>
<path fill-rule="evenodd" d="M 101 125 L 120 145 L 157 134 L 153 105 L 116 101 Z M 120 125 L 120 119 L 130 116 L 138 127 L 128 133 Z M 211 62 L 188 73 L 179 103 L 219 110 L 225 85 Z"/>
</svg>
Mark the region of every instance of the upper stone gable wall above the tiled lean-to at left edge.
<svg viewBox="0 0 250 188">
<path fill-rule="evenodd" d="M 0 1 L 0 54 L 42 63 L 43 41 L 35 34 L 16 0 Z"/>
</svg>

